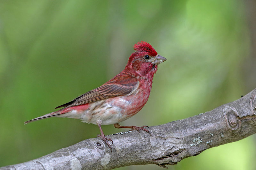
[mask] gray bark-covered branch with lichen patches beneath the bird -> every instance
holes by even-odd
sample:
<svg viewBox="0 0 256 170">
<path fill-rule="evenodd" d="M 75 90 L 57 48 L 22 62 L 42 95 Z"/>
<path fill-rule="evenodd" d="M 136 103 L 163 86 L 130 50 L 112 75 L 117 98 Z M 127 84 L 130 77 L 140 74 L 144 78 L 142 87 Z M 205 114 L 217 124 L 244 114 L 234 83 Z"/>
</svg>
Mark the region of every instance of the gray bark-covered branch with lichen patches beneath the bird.
<svg viewBox="0 0 256 170">
<path fill-rule="evenodd" d="M 149 127 L 151 136 L 145 131 L 110 135 L 112 152 L 98 137 L 0 169 L 113 169 L 146 164 L 166 167 L 256 133 L 255 109 L 256 89 L 204 114 Z"/>
</svg>

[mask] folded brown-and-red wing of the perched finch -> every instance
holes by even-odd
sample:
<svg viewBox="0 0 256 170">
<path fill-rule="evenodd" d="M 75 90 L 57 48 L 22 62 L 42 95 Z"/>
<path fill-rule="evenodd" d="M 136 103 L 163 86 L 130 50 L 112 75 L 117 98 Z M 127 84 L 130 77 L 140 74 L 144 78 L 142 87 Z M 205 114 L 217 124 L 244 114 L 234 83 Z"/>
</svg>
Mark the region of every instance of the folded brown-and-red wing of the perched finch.
<svg viewBox="0 0 256 170">
<path fill-rule="evenodd" d="M 119 74 L 100 87 L 56 108 L 78 106 L 111 97 L 128 95 L 138 87 L 138 84 L 137 78 L 131 75 Z"/>
</svg>

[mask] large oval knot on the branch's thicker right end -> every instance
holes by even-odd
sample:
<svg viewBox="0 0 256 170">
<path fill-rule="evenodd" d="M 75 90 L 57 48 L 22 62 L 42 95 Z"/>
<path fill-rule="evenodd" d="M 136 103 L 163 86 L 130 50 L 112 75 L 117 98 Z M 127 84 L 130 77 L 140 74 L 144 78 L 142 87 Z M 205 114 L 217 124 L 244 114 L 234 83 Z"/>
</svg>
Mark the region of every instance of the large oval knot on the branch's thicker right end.
<svg viewBox="0 0 256 170">
<path fill-rule="evenodd" d="M 239 130 L 241 127 L 241 120 L 236 109 L 230 106 L 225 106 L 224 113 L 228 129 L 232 132 Z"/>
</svg>

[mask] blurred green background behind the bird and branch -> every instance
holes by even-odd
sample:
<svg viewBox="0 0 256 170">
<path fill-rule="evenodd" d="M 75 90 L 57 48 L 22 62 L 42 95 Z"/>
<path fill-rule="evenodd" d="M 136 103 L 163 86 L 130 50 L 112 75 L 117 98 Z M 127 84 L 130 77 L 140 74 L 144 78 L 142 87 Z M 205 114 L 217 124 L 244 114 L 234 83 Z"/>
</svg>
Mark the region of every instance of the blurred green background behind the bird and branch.
<svg viewBox="0 0 256 170">
<path fill-rule="evenodd" d="M 96 137 L 96 125 L 76 119 L 23 122 L 114 77 L 137 41 L 149 42 L 168 60 L 158 67 L 148 103 L 122 125 L 164 124 L 239 99 L 256 87 L 253 5 L 249 0 L 1 0 L 0 166 Z M 106 135 L 125 130 L 103 126 Z M 256 169 L 255 141 L 252 135 L 211 148 L 169 169 Z"/>
</svg>

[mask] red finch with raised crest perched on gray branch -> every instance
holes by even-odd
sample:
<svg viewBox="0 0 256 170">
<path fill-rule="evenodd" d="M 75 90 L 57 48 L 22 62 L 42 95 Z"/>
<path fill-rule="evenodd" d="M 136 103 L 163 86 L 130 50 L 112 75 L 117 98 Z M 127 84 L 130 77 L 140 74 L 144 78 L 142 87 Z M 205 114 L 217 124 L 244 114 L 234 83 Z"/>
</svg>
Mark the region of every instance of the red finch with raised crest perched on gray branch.
<svg viewBox="0 0 256 170">
<path fill-rule="evenodd" d="M 119 122 L 138 113 L 146 104 L 157 65 L 166 58 L 158 55 L 147 42 L 138 42 L 133 49 L 135 52 L 129 57 L 124 70 L 107 83 L 56 107 L 64 108 L 29 120 L 25 124 L 53 116 L 80 119 L 86 123 L 97 124 L 101 134 L 98 137 L 101 137 L 109 148 L 111 146 L 108 141 L 112 140 L 105 137 L 101 125 L 114 124 L 115 128 L 141 129 L 149 133 L 145 129 L 147 126 L 120 126 Z"/>
</svg>

